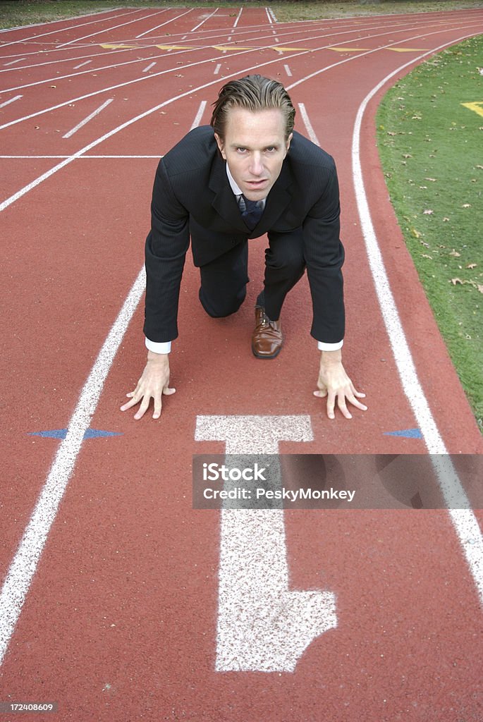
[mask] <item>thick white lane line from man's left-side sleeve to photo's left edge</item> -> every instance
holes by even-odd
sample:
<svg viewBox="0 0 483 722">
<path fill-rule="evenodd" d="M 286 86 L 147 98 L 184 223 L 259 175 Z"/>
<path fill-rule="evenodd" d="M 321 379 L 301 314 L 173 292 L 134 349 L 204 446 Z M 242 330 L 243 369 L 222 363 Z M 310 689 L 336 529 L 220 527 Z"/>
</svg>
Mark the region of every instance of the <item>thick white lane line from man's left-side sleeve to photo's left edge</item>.
<svg viewBox="0 0 483 722">
<path fill-rule="evenodd" d="M 92 366 L 69 422 L 66 438 L 58 448 L 51 471 L 9 567 L 0 593 L 0 664 L 17 625 L 38 560 L 56 518 L 58 505 L 74 471 L 84 433 L 90 426 L 110 366 L 144 292 L 144 280 L 142 269 Z"/>
</svg>

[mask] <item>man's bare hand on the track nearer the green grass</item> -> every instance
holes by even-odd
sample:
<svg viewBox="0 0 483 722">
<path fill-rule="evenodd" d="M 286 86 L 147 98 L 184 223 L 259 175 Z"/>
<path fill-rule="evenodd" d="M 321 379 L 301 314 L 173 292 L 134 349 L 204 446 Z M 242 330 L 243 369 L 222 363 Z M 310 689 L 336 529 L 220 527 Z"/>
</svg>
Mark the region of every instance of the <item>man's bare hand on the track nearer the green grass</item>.
<svg viewBox="0 0 483 722">
<path fill-rule="evenodd" d="M 314 391 L 313 395 L 321 398 L 327 396 L 327 416 L 329 419 L 335 418 L 334 407 L 336 401 L 346 419 L 352 419 L 346 401 L 349 401 L 349 404 L 352 404 L 357 409 L 367 411 L 367 406 L 357 400 L 364 399 L 365 393 L 356 390 L 345 372 L 340 350 L 321 352 L 321 367 L 318 373 L 317 386 L 318 391 Z"/>
</svg>

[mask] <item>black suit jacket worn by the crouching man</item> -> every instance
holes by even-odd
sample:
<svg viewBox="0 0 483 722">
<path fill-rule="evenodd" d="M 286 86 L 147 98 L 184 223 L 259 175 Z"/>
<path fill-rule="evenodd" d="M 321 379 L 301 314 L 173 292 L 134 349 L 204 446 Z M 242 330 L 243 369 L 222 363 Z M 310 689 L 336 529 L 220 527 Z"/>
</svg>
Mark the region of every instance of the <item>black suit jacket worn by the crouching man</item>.
<svg viewBox="0 0 483 722">
<path fill-rule="evenodd" d="M 334 160 L 294 132 L 264 214 L 249 231 L 228 182 L 210 126 L 186 135 L 160 161 L 146 240 L 144 334 L 154 342 L 178 336 L 178 299 L 190 237 L 193 261 L 203 266 L 247 238 L 303 230 L 313 302 L 311 334 L 335 343 L 344 336 L 339 239 L 339 186 Z"/>
</svg>

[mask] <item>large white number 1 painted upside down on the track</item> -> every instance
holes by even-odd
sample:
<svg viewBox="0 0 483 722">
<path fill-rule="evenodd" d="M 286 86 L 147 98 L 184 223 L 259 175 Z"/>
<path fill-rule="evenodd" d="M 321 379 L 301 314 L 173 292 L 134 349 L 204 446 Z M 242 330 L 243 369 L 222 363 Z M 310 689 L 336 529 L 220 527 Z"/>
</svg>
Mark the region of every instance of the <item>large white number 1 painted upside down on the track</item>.
<svg viewBox="0 0 483 722">
<path fill-rule="evenodd" d="M 196 441 L 227 454 L 277 454 L 313 439 L 308 416 L 200 416 Z M 282 509 L 222 509 L 217 671 L 292 672 L 310 643 L 336 627 L 334 594 L 289 589 Z"/>
</svg>

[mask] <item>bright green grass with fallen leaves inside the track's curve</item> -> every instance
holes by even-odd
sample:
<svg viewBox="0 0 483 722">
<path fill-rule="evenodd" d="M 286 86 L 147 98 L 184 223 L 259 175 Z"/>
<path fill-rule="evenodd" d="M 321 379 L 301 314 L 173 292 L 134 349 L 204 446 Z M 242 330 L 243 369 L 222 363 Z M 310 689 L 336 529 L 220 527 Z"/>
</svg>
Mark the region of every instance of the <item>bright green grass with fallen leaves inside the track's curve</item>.
<svg viewBox="0 0 483 722">
<path fill-rule="evenodd" d="M 378 146 L 391 201 L 483 428 L 483 36 L 438 53 L 386 94 Z M 451 404 L 451 399 L 448 399 Z"/>
</svg>

